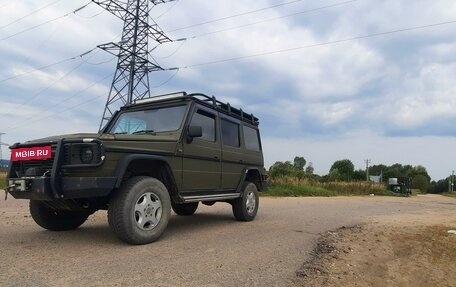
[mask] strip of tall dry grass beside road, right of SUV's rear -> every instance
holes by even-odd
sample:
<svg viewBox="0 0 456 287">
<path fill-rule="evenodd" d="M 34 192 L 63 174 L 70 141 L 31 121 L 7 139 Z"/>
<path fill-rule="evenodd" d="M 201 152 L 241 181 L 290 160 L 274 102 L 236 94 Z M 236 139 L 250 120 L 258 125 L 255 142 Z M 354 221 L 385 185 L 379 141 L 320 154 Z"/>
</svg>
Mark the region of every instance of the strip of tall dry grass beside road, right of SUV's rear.
<svg viewBox="0 0 456 287">
<path fill-rule="evenodd" d="M 381 183 L 372 182 L 317 182 L 308 179 L 282 177 L 272 179 L 265 196 L 351 196 L 351 195 L 401 196 L 386 189 Z"/>
</svg>

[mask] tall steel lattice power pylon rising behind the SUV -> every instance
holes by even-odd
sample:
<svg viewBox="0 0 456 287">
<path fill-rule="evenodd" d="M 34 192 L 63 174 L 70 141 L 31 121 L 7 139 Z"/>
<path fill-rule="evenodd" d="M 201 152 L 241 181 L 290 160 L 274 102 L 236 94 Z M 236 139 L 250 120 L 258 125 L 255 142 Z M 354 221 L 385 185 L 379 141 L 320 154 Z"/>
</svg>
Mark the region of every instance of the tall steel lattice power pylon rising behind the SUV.
<svg viewBox="0 0 456 287">
<path fill-rule="evenodd" d="M 149 6 L 172 1 L 175 0 L 92 0 L 124 21 L 120 42 L 98 46 L 118 57 L 100 129 L 119 107 L 150 96 L 149 72 L 163 68 L 149 60 L 149 38 L 158 44 L 172 40 L 155 21 L 150 19 L 153 24 L 149 24 Z"/>
</svg>

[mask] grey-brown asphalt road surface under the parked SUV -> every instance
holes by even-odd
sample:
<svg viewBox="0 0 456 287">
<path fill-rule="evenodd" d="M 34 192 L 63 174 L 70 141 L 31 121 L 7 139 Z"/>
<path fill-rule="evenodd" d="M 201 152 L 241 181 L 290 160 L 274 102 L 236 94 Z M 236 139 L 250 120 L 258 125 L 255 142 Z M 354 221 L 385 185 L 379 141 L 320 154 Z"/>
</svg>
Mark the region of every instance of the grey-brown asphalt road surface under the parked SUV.
<svg viewBox="0 0 456 287">
<path fill-rule="evenodd" d="M 129 246 L 110 231 L 106 212 L 79 229 L 49 232 L 27 201 L 0 200 L 1 286 L 290 286 L 319 236 L 382 215 L 456 215 L 456 200 L 411 198 L 260 198 L 253 222 L 228 204 L 173 215 L 155 243 Z"/>
</svg>

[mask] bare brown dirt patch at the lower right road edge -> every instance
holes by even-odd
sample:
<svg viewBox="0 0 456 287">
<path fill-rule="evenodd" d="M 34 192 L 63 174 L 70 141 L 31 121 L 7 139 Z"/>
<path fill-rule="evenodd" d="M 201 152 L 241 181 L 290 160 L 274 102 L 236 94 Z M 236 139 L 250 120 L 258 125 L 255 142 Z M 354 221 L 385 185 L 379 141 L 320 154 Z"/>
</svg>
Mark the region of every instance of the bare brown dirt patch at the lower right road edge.
<svg viewBox="0 0 456 287">
<path fill-rule="evenodd" d="M 435 224 L 435 217 L 327 232 L 297 271 L 296 285 L 456 286 L 456 235 L 448 233 L 456 224 Z"/>
</svg>

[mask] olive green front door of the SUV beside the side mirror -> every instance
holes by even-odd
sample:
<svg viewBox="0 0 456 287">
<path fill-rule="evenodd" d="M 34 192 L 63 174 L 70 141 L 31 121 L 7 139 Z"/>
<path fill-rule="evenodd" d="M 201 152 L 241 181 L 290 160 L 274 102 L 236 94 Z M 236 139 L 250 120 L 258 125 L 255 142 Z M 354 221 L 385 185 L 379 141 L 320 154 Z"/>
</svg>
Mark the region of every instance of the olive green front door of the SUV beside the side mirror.
<svg viewBox="0 0 456 287">
<path fill-rule="evenodd" d="M 200 126 L 202 136 L 191 140 L 184 139 L 182 190 L 188 192 L 220 189 L 221 150 L 217 114 L 197 105 L 189 126 Z"/>
</svg>

